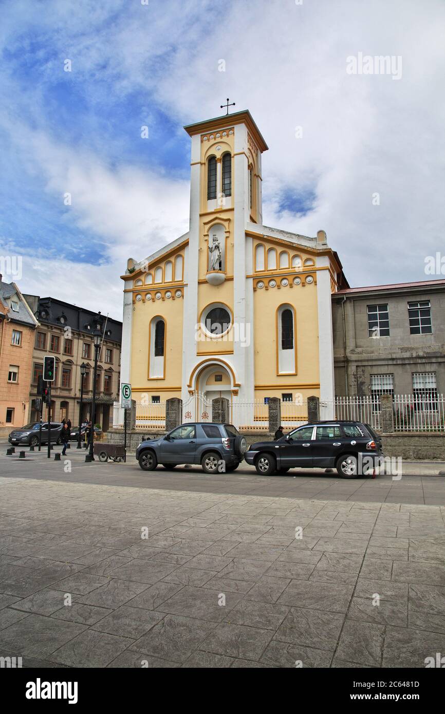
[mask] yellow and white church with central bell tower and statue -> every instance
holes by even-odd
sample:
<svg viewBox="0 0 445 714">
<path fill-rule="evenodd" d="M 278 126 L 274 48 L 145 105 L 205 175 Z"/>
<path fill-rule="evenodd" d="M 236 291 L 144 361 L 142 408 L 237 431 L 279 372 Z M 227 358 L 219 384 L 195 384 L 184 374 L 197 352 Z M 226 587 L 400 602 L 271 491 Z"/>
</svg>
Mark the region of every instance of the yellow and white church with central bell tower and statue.
<svg viewBox="0 0 445 714">
<path fill-rule="evenodd" d="M 339 257 L 324 231 L 263 225 L 268 147 L 249 111 L 184 129 L 189 231 L 130 258 L 121 276 L 121 382 L 136 401 L 181 398 L 183 419 L 196 421 L 215 397 L 236 406 L 319 396 L 332 405 L 331 295 L 349 287 Z"/>
</svg>

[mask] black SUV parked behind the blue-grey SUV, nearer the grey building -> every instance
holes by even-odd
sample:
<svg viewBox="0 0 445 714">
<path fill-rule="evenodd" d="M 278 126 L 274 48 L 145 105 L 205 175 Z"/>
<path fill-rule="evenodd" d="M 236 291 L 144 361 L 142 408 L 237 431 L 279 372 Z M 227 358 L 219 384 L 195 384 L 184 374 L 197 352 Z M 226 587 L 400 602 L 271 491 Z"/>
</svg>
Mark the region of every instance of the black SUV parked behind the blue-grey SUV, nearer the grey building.
<svg viewBox="0 0 445 714">
<path fill-rule="evenodd" d="M 336 468 L 343 478 L 372 473 L 382 456 L 381 438 L 369 424 L 336 420 L 299 426 L 277 441 L 252 444 L 244 454 L 263 476 L 289 468 Z"/>
</svg>

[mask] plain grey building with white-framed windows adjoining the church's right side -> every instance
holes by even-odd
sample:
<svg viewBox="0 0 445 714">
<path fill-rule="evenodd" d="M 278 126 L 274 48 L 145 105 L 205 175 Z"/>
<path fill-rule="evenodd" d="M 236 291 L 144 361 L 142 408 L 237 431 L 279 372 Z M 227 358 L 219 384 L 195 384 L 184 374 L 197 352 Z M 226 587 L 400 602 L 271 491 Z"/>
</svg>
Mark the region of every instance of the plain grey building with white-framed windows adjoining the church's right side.
<svg viewBox="0 0 445 714">
<path fill-rule="evenodd" d="M 331 296 L 337 396 L 445 393 L 445 280 Z"/>
</svg>

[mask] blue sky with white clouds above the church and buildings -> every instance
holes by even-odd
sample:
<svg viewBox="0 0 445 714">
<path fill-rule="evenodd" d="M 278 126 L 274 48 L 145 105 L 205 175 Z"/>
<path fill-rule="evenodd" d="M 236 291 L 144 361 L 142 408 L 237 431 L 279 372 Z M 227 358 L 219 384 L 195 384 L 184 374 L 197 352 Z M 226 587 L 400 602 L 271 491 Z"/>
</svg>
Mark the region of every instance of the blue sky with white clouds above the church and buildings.
<svg viewBox="0 0 445 714">
<path fill-rule="evenodd" d="M 269 144 L 267 226 L 324 228 L 351 285 L 431 277 L 444 23 L 439 0 L 4 0 L 0 256 L 23 256 L 24 291 L 119 318 L 126 258 L 188 228 L 182 127 L 229 96 Z M 401 56 L 401 79 L 349 76 L 359 52 Z"/>
</svg>

